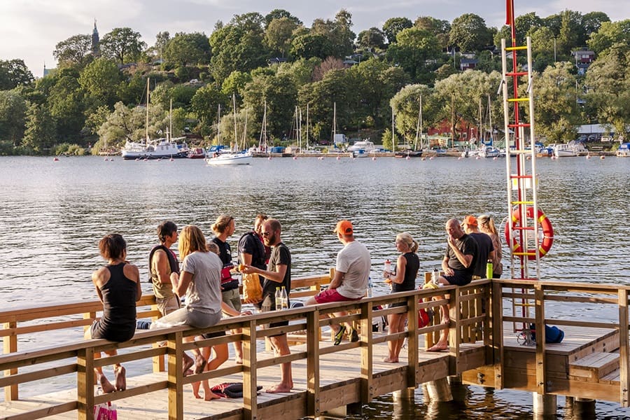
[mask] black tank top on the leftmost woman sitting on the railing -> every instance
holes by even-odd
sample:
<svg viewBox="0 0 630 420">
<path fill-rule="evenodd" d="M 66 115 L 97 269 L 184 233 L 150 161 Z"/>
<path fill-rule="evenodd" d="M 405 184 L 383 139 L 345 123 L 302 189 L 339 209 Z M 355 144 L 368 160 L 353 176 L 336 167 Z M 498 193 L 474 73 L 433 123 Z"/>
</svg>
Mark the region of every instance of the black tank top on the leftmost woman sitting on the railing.
<svg viewBox="0 0 630 420">
<path fill-rule="evenodd" d="M 131 339 L 136 330 L 136 291 L 135 281 L 123 274 L 125 262 L 106 265 L 109 281 L 101 287 L 103 295 L 103 317 L 100 324 L 104 338 L 123 342 Z"/>
</svg>

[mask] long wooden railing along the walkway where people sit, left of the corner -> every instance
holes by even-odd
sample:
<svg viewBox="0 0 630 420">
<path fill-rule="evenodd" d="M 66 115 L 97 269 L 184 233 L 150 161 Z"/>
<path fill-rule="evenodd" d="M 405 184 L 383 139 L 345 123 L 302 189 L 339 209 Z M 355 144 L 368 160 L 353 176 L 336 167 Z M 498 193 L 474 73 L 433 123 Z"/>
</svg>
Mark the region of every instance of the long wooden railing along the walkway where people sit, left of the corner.
<svg viewBox="0 0 630 420">
<path fill-rule="evenodd" d="M 319 287 L 320 284 L 325 283 L 326 279 L 327 276 L 311 277 L 304 280 L 304 282 L 311 282 L 313 286 Z M 330 279 L 329 276 L 328 279 Z M 296 279 L 294 284 L 300 283 L 297 282 Z M 58 402 L 57 404 L 45 408 L 34 409 L 26 414 L 22 413 L 16 416 L 7 416 L 6 419 L 39 419 L 54 414 L 69 412 L 74 409 L 78 411 L 79 419 L 92 419 L 92 410 L 96 404 L 151 393 L 160 389 L 168 389 L 169 419 L 181 419 L 183 417 L 182 391 L 184 385 L 202 379 L 213 379 L 239 373 L 242 374 L 244 383 L 244 418 L 255 419 L 258 409 L 258 397 L 256 395 L 257 369 L 300 359 L 307 360 L 307 377 L 304 380 L 307 382 L 308 412 L 310 415 L 318 416 L 322 412 L 320 407 L 321 402 L 318 398 L 320 391 L 318 363 L 319 357 L 328 353 L 360 348 L 362 400 L 369 402 L 374 397 L 371 391 L 373 377 L 372 346 L 374 344 L 407 337 L 407 386 L 415 387 L 419 370 L 419 335 L 437 334 L 450 326 L 449 334 L 451 343 L 453 343 L 451 345 L 451 356 L 453 358 L 451 363 L 453 367 L 452 372 L 453 374 L 457 373 L 458 346 L 460 342 L 466 339 L 474 341 L 478 337 L 481 337 L 484 342 L 488 341 L 488 338 L 484 337 L 482 334 L 483 330 L 487 331 L 488 329 L 475 328 L 476 332 L 474 334 L 466 332 L 470 331 L 472 325 L 477 325 L 480 322 L 487 323 L 488 318 L 484 314 L 479 313 L 477 309 L 473 311 L 470 310 L 471 308 L 482 307 L 481 300 L 487 295 L 487 290 L 489 290 L 489 281 L 477 281 L 469 286 L 459 288 L 448 286 L 436 290 L 416 290 L 365 298 L 358 302 L 319 304 L 311 307 L 288 309 L 286 311 L 274 311 L 251 316 L 227 318 L 223 319 L 217 325 L 205 329 L 178 327 L 139 331 L 130 341 L 123 343 L 109 342 L 104 339 L 78 339 L 71 344 L 33 350 L 18 351 L 17 346 L 15 346 L 15 348 L 8 349 L 10 350 L 7 351 L 8 354 L 0 356 L 0 370 L 5 372 L 4 377 L 0 378 L 0 386 L 5 387 L 6 400 L 18 399 L 18 385 L 20 384 L 57 377 L 62 374 L 76 374 L 77 397 L 76 400 Z M 298 291 L 297 293 L 300 292 Z M 308 290 L 306 293 L 312 292 Z M 449 293 L 447 300 L 443 297 L 444 293 Z M 292 293 L 292 295 L 294 294 Z M 385 305 L 393 302 L 405 302 L 406 306 L 393 307 L 391 309 L 374 309 L 377 305 L 385 307 Z M 149 297 L 144 298 L 144 300 L 140 302 L 140 304 L 144 306 L 151 303 L 151 298 Z M 440 305 L 446 303 L 451 305 L 450 325 L 437 323 L 425 328 L 417 328 L 416 314 L 420 308 L 434 308 L 437 310 Z M 0 312 L 0 322 L 5 325 L 5 329 L 2 330 L 5 342 L 15 343 L 13 338 L 17 337 L 20 333 L 44 330 L 50 331 L 50 325 L 53 325 L 53 328 L 76 328 L 78 326 L 85 326 L 89 323 L 87 318 L 94 316 L 98 309 L 100 309 L 98 302 L 82 302 L 79 307 L 73 307 L 72 304 L 64 304 L 55 307 L 32 308 L 30 310 L 14 309 Z M 349 311 L 350 314 L 341 318 L 335 318 L 334 322 L 350 321 L 359 325 L 360 341 L 345 343 L 339 346 L 321 347 L 318 339 L 319 330 L 326 325 L 331 325 L 333 321 L 330 318 L 322 320 L 320 318 L 326 314 L 339 311 L 340 309 Z M 409 314 L 408 331 L 373 337 L 372 318 L 405 311 Z M 45 324 L 43 327 L 40 325 L 17 325 L 25 320 L 50 318 L 53 314 L 90 314 L 90 316 L 86 316 L 86 321 L 83 319 L 78 321 L 52 321 Z M 144 311 L 141 312 L 141 314 L 146 316 L 154 315 L 154 310 Z M 261 325 L 278 321 L 290 321 L 290 325 L 267 329 L 260 328 Z M 242 328 L 242 333 L 183 343 L 184 337 L 236 328 Z M 299 351 L 288 356 L 260 358 L 260 353 L 256 351 L 257 339 L 277 335 L 279 333 L 291 333 L 297 330 L 307 331 L 306 351 Z M 50 332 L 48 333 L 50 334 Z M 477 336 L 477 334 L 479 334 L 479 336 Z M 211 372 L 184 377 L 181 365 L 183 351 L 188 351 L 195 347 L 201 348 L 239 340 L 243 342 L 244 359 L 242 365 L 220 367 Z M 167 346 L 156 346 L 155 344 L 158 342 L 167 342 Z M 94 358 L 94 353 L 109 349 L 121 349 L 124 351 L 120 352 L 118 356 Z M 132 360 L 146 360 L 147 363 L 151 363 L 151 359 L 162 358 L 163 356 L 167 358 L 167 375 L 165 380 L 127 388 L 126 391 L 94 395 L 94 367 L 113 363 L 127 363 Z M 43 363 L 45 363 L 45 365 L 41 366 Z M 52 367 L 50 365 L 52 365 Z M 28 372 L 19 372 L 20 369 L 25 367 L 28 367 Z M 13 393 L 13 390 L 15 390 L 15 393 Z"/>
</svg>

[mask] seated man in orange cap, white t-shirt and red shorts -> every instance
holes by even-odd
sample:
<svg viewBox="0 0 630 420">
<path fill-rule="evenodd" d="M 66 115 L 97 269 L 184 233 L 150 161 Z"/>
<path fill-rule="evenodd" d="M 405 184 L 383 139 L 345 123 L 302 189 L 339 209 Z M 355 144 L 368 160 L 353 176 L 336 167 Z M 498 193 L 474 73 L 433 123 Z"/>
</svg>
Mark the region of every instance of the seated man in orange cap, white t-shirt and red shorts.
<svg viewBox="0 0 630 420">
<path fill-rule="evenodd" d="M 367 290 L 368 276 L 370 276 L 370 251 L 365 245 L 354 239 L 354 229 L 350 221 L 339 221 L 335 233 L 339 241 L 344 244 L 337 253 L 335 276 L 330 281 L 328 289 L 310 297 L 304 304 L 347 302 L 360 300 Z M 345 316 L 346 311 L 335 312 L 335 316 Z M 342 342 L 348 330 L 351 342 L 358 341 L 358 333 L 349 323 L 345 325 L 330 325 L 335 337 L 335 346 Z"/>
</svg>

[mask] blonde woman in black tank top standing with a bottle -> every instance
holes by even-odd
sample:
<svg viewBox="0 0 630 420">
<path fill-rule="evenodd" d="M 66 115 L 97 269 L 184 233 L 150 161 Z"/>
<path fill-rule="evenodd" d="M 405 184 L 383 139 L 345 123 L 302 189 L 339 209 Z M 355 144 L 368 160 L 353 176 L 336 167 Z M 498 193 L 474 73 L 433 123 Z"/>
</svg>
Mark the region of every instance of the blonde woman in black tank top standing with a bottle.
<svg viewBox="0 0 630 420">
<path fill-rule="evenodd" d="M 414 241 L 412 235 L 408 232 L 402 232 L 396 235 L 396 249 L 400 252 L 396 260 L 396 270 L 394 273 L 384 272 L 386 282 L 391 285 L 391 292 L 406 292 L 416 288 L 416 276 L 420 267 L 418 258 L 418 243 Z M 392 304 L 391 307 L 405 306 L 405 302 Z M 405 330 L 405 321 L 407 321 L 407 312 L 402 314 L 391 314 L 387 318 L 389 324 L 388 334 L 395 334 Z M 404 338 L 390 340 L 387 342 L 389 347 L 389 355 L 383 359 L 386 363 L 398 363 L 398 355 Z"/>
</svg>

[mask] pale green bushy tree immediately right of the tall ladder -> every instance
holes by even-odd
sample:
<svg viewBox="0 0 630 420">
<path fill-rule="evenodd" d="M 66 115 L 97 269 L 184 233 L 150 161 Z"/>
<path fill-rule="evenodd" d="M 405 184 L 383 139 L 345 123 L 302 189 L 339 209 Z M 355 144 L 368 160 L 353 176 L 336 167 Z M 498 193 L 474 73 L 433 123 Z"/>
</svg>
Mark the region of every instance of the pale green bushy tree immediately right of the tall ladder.
<svg viewBox="0 0 630 420">
<path fill-rule="evenodd" d="M 575 127 L 580 123 L 580 113 L 572 72 L 573 64 L 557 62 L 540 76 L 534 75 L 536 130 L 551 142 L 573 140 L 577 133 Z M 521 89 L 524 92 L 526 86 Z"/>
</svg>

